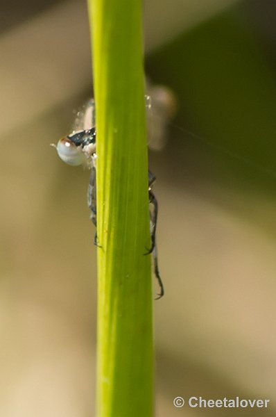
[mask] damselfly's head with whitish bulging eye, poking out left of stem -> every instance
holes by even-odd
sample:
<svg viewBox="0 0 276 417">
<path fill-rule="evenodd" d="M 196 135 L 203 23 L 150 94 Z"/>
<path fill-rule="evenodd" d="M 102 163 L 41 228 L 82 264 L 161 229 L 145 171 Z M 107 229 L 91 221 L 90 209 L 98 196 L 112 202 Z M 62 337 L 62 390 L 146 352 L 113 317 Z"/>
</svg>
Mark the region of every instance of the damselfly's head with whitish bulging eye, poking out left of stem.
<svg viewBox="0 0 276 417">
<path fill-rule="evenodd" d="M 78 111 L 72 133 L 61 138 L 55 149 L 68 165 L 91 167 L 96 160 L 95 104 L 90 99 Z"/>
</svg>

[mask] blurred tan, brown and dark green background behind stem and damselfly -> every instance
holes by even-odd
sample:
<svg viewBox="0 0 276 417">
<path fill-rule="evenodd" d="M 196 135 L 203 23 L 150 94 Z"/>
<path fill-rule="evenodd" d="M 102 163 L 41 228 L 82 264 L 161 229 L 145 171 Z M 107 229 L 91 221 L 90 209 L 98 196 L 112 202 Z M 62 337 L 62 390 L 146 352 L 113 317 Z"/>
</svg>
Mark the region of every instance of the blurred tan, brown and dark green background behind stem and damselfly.
<svg viewBox="0 0 276 417">
<path fill-rule="evenodd" d="M 175 116 L 150 151 L 166 295 L 157 417 L 276 416 L 276 4 L 146 0 L 146 74 Z M 94 416 L 89 173 L 59 160 L 90 97 L 85 1 L 0 4 L 0 416 Z M 166 120 L 166 119 L 165 119 Z M 173 407 L 181 395 L 268 409 Z"/>
</svg>

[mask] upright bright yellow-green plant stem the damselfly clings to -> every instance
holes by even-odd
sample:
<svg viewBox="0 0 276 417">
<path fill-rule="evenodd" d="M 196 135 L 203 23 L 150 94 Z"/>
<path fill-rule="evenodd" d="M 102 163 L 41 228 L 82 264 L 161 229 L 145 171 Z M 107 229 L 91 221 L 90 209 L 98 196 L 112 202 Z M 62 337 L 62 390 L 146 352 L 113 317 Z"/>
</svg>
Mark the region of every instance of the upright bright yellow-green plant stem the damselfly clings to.
<svg viewBox="0 0 276 417">
<path fill-rule="evenodd" d="M 97 134 L 97 417 L 153 416 L 141 0 L 89 0 Z"/>
</svg>

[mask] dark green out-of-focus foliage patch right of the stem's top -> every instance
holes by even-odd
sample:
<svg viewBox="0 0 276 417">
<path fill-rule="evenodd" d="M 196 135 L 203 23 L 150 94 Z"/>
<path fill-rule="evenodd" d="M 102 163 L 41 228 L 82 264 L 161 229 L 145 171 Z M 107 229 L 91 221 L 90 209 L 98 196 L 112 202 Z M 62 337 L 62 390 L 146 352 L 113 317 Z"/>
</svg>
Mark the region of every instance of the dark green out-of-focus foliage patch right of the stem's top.
<svg viewBox="0 0 276 417">
<path fill-rule="evenodd" d="M 212 181 L 274 199 L 276 78 L 241 9 L 227 10 L 156 51 L 147 72 L 175 90 L 175 124 L 196 133 L 179 129 L 183 140 L 212 158 Z"/>
</svg>

